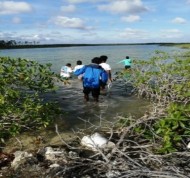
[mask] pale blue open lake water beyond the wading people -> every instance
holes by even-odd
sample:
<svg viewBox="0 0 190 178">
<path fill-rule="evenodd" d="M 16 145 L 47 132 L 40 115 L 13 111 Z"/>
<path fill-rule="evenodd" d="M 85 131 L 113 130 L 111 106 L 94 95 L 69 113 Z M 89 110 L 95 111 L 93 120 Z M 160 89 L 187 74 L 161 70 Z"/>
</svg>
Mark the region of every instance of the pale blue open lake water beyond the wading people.
<svg viewBox="0 0 190 178">
<path fill-rule="evenodd" d="M 126 56 L 131 59 L 148 59 L 155 50 L 176 52 L 179 48 L 159 45 L 120 45 L 120 46 L 80 46 L 60 48 L 32 48 L 0 50 L 0 56 L 21 57 L 36 60 L 40 63 L 52 63 L 52 70 L 59 73 L 62 65 L 71 63 L 76 65 L 77 60 L 89 64 L 96 56 L 107 55 L 112 70 L 120 70 L 122 64 L 117 64 Z"/>
</svg>

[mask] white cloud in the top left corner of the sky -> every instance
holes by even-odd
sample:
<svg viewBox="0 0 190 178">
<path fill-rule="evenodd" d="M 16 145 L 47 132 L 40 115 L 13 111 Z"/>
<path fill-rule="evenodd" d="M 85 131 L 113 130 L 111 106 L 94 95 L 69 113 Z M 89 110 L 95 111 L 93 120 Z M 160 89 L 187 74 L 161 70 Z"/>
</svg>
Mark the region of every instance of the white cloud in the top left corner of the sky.
<svg viewBox="0 0 190 178">
<path fill-rule="evenodd" d="M 31 11 L 32 11 L 32 6 L 26 2 L 15 2 L 15 1 L 0 2 L 0 15 L 20 14 Z"/>
</svg>

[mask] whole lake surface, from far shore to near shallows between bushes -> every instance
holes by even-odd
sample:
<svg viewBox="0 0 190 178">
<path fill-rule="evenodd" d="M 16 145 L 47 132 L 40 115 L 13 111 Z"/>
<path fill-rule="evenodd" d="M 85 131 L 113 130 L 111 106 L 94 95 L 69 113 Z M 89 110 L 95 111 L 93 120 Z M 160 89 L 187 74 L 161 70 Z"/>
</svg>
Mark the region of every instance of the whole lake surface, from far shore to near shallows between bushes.
<svg viewBox="0 0 190 178">
<path fill-rule="evenodd" d="M 60 72 L 62 65 L 71 63 L 74 67 L 77 60 L 89 64 L 91 59 L 100 55 L 108 56 L 108 63 L 112 73 L 123 69 L 122 64 L 117 64 L 125 56 L 133 59 L 148 60 L 155 50 L 176 53 L 180 49 L 159 45 L 123 45 L 123 46 L 85 46 L 85 47 L 60 47 L 60 48 L 33 48 L 33 49 L 7 49 L 1 50 L 0 56 L 25 58 L 36 60 L 40 63 L 52 63 L 52 70 Z M 142 99 L 126 94 L 122 83 L 113 82 L 109 95 L 101 95 L 100 102 L 88 103 L 83 100 L 82 83 L 72 79 L 70 85 L 59 84 L 60 89 L 51 97 L 59 101 L 65 114 L 55 119 L 60 132 L 71 132 L 72 129 L 88 127 L 90 123 L 101 124 L 102 120 L 113 121 L 118 115 L 140 117 L 148 109 L 149 103 Z M 87 124 L 88 123 L 88 124 Z M 50 130 L 53 130 L 53 125 Z"/>
</svg>

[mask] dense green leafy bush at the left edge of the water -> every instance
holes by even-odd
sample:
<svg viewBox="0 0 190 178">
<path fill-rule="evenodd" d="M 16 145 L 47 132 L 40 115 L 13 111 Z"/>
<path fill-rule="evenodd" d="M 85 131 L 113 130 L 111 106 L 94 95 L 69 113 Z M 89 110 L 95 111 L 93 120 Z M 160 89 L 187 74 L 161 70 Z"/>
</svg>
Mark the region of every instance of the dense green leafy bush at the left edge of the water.
<svg viewBox="0 0 190 178">
<path fill-rule="evenodd" d="M 60 114 L 55 103 L 43 95 L 55 91 L 58 76 L 51 64 L 41 65 L 26 59 L 0 57 L 0 138 L 25 129 L 47 126 Z"/>
</svg>

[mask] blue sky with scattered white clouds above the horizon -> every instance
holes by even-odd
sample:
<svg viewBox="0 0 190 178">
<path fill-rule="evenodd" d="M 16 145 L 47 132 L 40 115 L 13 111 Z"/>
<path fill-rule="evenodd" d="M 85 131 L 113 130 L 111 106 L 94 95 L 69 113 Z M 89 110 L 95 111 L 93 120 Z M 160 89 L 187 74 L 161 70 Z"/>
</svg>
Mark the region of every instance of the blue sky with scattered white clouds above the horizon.
<svg viewBox="0 0 190 178">
<path fill-rule="evenodd" d="M 190 42 L 190 0 L 0 0 L 0 40 Z"/>
</svg>

